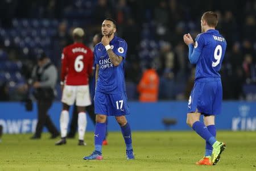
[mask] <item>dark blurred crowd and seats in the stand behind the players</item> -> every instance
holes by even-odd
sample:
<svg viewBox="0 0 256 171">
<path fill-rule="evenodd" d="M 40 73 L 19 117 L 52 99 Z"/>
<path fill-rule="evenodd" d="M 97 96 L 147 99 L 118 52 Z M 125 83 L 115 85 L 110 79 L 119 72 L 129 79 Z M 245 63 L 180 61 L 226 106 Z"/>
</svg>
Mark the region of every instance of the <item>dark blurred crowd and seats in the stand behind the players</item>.
<svg viewBox="0 0 256 171">
<path fill-rule="evenodd" d="M 209 10 L 217 12 L 216 29 L 228 43 L 221 69 L 224 99 L 256 100 L 254 0 L 2 0 L 0 100 L 24 98 L 18 87 L 30 77 L 38 49 L 60 68 L 61 51 L 72 43 L 73 28 L 84 28 L 85 44 L 92 47 L 93 35 L 108 17 L 117 21 L 117 34 L 128 44 L 128 98 L 139 98 L 137 87 L 150 68 L 159 77 L 158 99 L 187 100 L 195 66 L 188 62 L 183 35 L 189 32 L 195 38 L 201 15 Z M 60 87 L 56 89 L 59 99 Z"/>
</svg>

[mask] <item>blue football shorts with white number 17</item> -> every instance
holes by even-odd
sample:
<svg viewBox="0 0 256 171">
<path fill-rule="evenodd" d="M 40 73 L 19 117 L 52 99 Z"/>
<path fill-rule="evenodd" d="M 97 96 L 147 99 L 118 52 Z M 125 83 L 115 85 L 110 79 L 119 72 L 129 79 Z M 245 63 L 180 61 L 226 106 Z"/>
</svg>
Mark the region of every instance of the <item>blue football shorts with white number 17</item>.
<svg viewBox="0 0 256 171">
<path fill-rule="evenodd" d="M 127 105 L 126 92 L 118 94 L 105 94 L 95 91 L 94 96 L 95 114 L 107 116 L 129 115 L 129 106 Z"/>
</svg>

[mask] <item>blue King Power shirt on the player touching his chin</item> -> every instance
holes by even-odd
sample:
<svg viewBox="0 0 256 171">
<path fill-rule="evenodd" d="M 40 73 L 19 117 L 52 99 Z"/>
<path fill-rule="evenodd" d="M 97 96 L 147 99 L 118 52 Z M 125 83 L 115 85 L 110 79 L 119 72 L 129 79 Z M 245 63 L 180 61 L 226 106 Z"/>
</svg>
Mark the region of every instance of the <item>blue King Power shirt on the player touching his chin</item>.
<svg viewBox="0 0 256 171">
<path fill-rule="evenodd" d="M 127 43 L 125 40 L 114 36 L 109 43 L 115 55 L 122 56 L 123 60 L 118 66 L 114 66 L 102 43 L 94 47 L 94 63 L 99 65 L 96 91 L 107 94 L 123 93 L 125 91 L 125 58 Z"/>
</svg>

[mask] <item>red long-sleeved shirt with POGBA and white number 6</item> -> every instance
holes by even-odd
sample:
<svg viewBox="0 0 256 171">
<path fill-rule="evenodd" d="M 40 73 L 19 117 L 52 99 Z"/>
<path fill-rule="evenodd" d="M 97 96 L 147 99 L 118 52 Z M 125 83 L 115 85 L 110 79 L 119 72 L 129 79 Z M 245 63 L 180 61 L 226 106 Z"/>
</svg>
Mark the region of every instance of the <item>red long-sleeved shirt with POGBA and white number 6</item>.
<svg viewBox="0 0 256 171">
<path fill-rule="evenodd" d="M 88 85 L 92 73 L 93 52 L 82 43 L 63 49 L 61 55 L 61 81 L 66 85 Z"/>
</svg>

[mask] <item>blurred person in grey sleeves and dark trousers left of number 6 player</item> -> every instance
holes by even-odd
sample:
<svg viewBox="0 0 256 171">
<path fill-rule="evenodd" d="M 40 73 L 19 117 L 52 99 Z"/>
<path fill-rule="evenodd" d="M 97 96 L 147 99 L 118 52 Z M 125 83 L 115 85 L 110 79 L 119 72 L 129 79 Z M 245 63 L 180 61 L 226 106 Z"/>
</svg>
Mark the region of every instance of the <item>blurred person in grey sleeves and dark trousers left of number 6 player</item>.
<svg viewBox="0 0 256 171">
<path fill-rule="evenodd" d="M 54 89 L 57 82 L 57 69 L 43 51 L 39 53 L 37 60 L 38 65 L 34 67 L 31 79 L 28 81 L 28 84 L 34 87 L 34 96 L 38 106 L 38 123 L 36 124 L 35 134 L 31 139 L 40 139 L 44 126 L 52 134 L 51 139 L 54 139 L 60 133 L 52 123 L 48 110 L 55 98 Z"/>
</svg>

